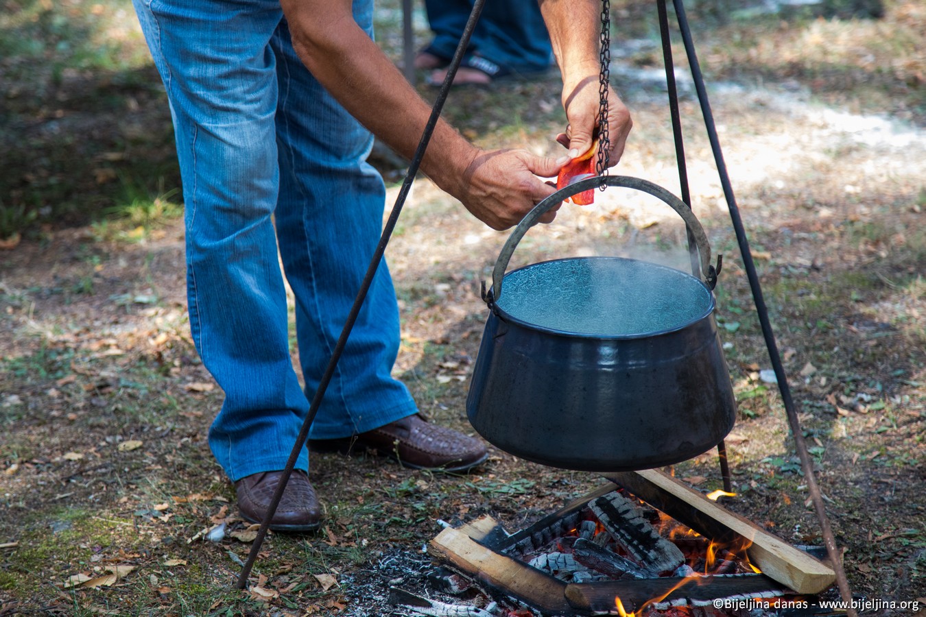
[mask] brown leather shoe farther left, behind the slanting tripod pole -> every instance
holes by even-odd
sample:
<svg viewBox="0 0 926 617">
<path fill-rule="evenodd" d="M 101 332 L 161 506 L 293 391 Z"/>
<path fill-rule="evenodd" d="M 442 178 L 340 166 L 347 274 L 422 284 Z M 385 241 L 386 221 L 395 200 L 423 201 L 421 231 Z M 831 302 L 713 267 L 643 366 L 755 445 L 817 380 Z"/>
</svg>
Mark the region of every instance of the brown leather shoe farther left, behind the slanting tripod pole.
<svg viewBox="0 0 926 617">
<path fill-rule="evenodd" d="M 282 471 L 247 475 L 234 483 L 238 494 L 238 510 L 245 521 L 261 523 L 270 500 L 280 484 Z M 270 520 L 274 531 L 312 531 L 321 523 L 319 499 L 308 482 L 308 475 L 295 469 L 283 491 L 280 505 Z"/>
</svg>

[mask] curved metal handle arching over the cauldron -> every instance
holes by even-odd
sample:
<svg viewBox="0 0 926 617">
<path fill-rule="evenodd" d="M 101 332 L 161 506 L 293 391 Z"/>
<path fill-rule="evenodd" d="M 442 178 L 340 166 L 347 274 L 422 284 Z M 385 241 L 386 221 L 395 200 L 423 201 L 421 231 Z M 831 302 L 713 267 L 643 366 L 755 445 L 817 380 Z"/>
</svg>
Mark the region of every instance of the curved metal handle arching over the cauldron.
<svg viewBox="0 0 926 617">
<path fill-rule="evenodd" d="M 531 212 L 527 213 L 527 216 L 521 219 L 518 227 L 508 236 L 505 246 L 502 247 L 502 252 L 498 253 L 498 259 L 495 261 L 495 268 L 492 272 L 492 289 L 487 293 L 483 292 L 482 299 L 491 304 L 502 295 L 502 278 L 505 278 L 505 270 L 507 269 L 508 262 L 511 260 L 511 255 L 514 254 L 515 249 L 518 248 L 518 243 L 524 237 L 524 234 L 527 233 L 527 230 L 536 225 L 541 216 L 544 216 L 550 208 L 569 197 L 582 191 L 596 189 L 603 184 L 607 184 L 607 186 L 623 187 L 625 189 L 636 189 L 637 191 L 649 193 L 665 202 L 665 204 L 675 210 L 679 216 L 682 216 L 682 220 L 692 232 L 694 243 L 697 245 L 704 282 L 710 289 L 714 289 L 714 286 L 717 284 L 717 274 L 720 271 L 720 262 L 718 262 L 717 268 L 710 265 L 710 244 L 707 241 L 707 234 L 704 232 L 704 228 L 701 227 L 700 221 L 694 216 L 691 208 L 682 202 L 681 199 L 649 180 L 632 178 L 630 176 L 606 176 L 605 178 L 594 176 L 574 182 L 568 187 L 564 187 L 553 193 L 540 204 L 533 206 Z"/>
</svg>

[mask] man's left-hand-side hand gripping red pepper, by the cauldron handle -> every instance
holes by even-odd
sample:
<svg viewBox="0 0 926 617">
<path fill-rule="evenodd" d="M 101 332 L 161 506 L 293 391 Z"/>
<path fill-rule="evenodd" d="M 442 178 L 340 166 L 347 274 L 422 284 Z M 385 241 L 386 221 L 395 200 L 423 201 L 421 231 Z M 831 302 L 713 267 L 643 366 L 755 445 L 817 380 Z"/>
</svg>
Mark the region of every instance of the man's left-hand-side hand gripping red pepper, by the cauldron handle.
<svg viewBox="0 0 926 617">
<path fill-rule="evenodd" d="M 525 150 L 480 151 L 464 172 L 455 197 L 489 227 L 507 229 L 556 191 L 537 176 L 556 176 L 568 160 L 565 156 L 554 160 Z M 559 204 L 540 222 L 552 222 L 558 209 Z"/>
</svg>

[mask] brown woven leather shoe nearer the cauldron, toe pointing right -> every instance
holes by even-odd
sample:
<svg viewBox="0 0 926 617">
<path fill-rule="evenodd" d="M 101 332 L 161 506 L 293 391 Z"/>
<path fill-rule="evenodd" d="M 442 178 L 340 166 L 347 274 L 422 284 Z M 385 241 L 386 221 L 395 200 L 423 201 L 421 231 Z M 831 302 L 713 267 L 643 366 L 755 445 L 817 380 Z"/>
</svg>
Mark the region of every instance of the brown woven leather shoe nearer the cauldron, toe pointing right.
<svg viewBox="0 0 926 617">
<path fill-rule="evenodd" d="M 485 461 L 489 454 L 482 441 L 459 431 L 428 424 L 419 415 L 409 415 L 386 426 L 351 438 L 309 439 L 310 450 L 376 450 L 405 467 L 433 471 L 462 472 Z"/>
</svg>

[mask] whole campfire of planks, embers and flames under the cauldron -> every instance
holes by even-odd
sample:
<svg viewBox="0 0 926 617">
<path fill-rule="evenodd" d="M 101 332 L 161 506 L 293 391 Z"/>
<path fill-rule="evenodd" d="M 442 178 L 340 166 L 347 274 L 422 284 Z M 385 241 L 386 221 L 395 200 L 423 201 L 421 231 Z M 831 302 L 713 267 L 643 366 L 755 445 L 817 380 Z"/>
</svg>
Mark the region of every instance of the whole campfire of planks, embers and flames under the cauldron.
<svg viewBox="0 0 926 617">
<path fill-rule="evenodd" d="M 393 604 L 435 617 L 825 614 L 809 609 L 834 580 L 823 562 L 668 475 L 607 477 L 515 533 L 488 516 L 445 524 L 432 584 L 457 601 L 394 588 Z"/>
</svg>

